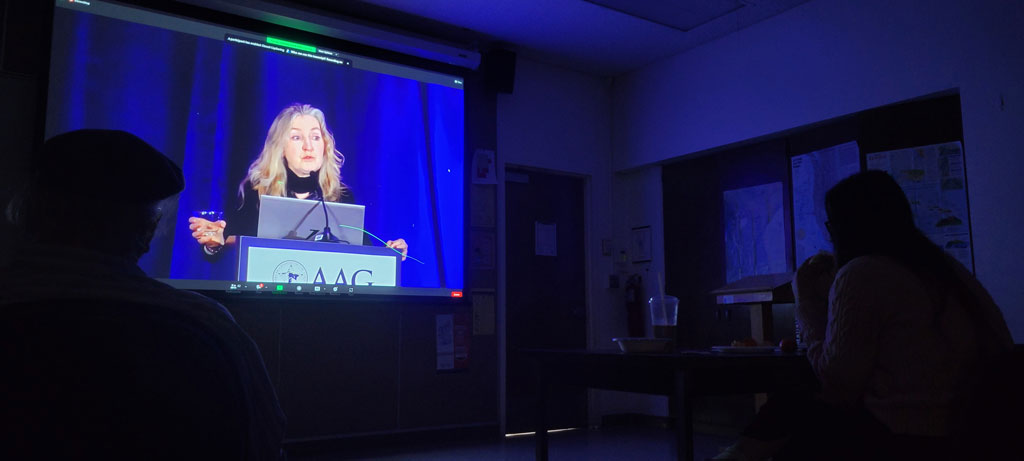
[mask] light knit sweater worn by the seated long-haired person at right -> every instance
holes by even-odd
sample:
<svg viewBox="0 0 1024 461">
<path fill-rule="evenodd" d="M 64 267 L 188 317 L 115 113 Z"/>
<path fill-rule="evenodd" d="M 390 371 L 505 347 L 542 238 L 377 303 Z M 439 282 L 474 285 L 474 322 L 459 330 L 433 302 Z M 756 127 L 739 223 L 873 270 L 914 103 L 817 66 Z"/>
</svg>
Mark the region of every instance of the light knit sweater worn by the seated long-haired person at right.
<svg viewBox="0 0 1024 461">
<path fill-rule="evenodd" d="M 862 405 L 894 433 L 950 434 L 956 392 L 978 361 L 980 341 L 1013 346 L 991 296 L 952 262 L 977 305 L 951 295 L 941 299 L 908 268 L 876 255 L 840 269 L 827 318 L 811 300 L 798 302 L 807 355 L 826 402 Z"/>
</svg>

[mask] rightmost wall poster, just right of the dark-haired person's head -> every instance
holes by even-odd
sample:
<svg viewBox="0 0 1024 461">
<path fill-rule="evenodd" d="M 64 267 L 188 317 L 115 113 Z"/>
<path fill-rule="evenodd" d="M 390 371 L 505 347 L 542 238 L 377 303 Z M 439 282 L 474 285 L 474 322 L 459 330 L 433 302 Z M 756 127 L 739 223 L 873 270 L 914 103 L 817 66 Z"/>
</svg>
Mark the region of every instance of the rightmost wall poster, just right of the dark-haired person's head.
<svg viewBox="0 0 1024 461">
<path fill-rule="evenodd" d="M 868 154 L 867 169 L 888 171 L 896 178 L 918 227 L 974 271 L 959 141 Z"/>
</svg>

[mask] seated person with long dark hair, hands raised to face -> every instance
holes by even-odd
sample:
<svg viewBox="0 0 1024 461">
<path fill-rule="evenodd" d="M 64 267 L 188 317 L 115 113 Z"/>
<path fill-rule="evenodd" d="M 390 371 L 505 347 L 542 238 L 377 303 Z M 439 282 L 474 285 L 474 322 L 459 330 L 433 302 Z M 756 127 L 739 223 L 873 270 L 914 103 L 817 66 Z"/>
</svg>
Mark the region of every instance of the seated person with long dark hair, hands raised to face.
<svg viewBox="0 0 1024 461">
<path fill-rule="evenodd" d="M 888 173 L 840 181 L 825 211 L 835 256 L 809 258 L 793 283 L 820 392 L 769 401 L 719 459 L 955 456 L 973 374 L 1013 348 L 1002 313 L 916 227 Z"/>
</svg>

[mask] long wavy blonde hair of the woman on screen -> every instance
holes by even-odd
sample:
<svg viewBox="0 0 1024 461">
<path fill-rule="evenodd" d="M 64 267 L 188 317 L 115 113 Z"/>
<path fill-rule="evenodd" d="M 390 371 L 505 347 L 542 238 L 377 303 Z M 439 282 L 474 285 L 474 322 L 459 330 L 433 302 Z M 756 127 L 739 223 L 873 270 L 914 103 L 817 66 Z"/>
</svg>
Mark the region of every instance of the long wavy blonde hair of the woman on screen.
<svg viewBox="0 0 1024 461">
<path fill-rule="evenodd" d="M 324 112 L 309 104 L 294 103 L 283 109 L 273 118 L 270 129 L 266 131 L 263 151 L 249 165 L 249 174 L 239 184 L 239 195 L 242 196 L 242 200 L 245 200 L 246 182 L 252 184 L 252 190 L 256 191 L 257 195 L 285 197 L 288 192 L 285 135 L 291 129 L 292 121 L 304 115 L 316 119 L 324 134 L 324 165 L 321 167 L 318 177 L 321 191 L 324 191 L 324 200 L 337 202 L 348 188 L 341 181 L 341 166 L 345 164 L 345 156 L 335 149 L 334 134 L 327 129 Z"/>
</svg>

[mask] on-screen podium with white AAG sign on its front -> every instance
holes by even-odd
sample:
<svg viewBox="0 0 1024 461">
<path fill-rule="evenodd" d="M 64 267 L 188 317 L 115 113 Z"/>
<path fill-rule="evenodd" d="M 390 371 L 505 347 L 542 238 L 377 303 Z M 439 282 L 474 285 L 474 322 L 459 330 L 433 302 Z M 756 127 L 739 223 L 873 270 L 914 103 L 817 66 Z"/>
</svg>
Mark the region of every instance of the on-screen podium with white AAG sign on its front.
<svg viewBox="0 0 1024 461">
<path fill-rule="evenodd" d="M 243 236 L 237 275 L 242 282 L 397 287 L 400 256 L 386 247 Z"/>
</svg>

